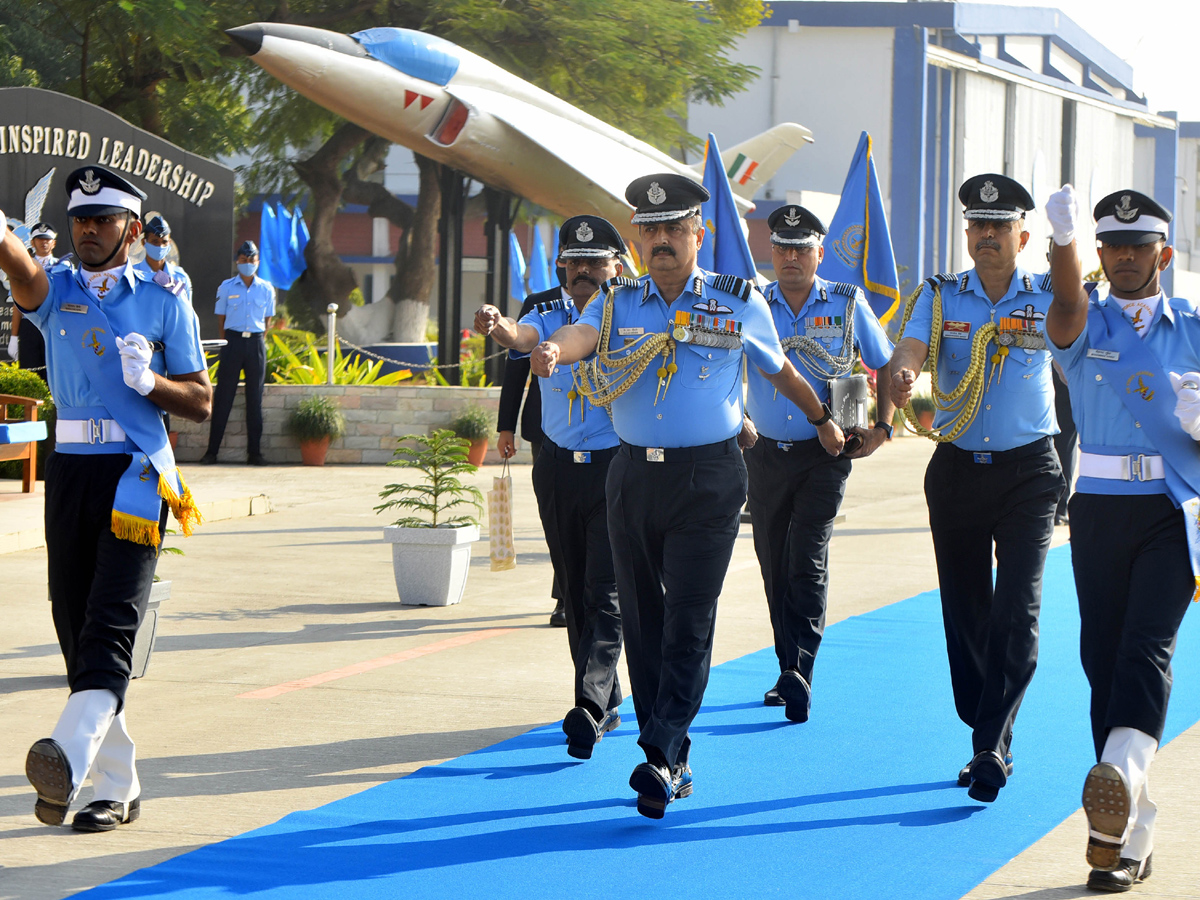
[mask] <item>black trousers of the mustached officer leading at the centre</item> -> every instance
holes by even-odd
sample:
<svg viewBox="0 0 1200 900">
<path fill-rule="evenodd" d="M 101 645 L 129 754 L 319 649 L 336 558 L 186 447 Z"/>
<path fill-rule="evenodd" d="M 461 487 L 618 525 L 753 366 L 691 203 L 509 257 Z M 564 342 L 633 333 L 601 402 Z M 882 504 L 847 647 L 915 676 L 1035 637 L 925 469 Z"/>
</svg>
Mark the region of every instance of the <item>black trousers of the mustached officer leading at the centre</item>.
<svg viewBox="0 0 1200 900">
<path fill-rule="evenodd" d="M 666 462 L 648 462 L 643 448 L 622 444 L 607 494 L 637 743 L 652 762 L 673 764 L 688 761 L 708 684 L 746 470 L 733 438 L 665 452 Z"/>
</svg>

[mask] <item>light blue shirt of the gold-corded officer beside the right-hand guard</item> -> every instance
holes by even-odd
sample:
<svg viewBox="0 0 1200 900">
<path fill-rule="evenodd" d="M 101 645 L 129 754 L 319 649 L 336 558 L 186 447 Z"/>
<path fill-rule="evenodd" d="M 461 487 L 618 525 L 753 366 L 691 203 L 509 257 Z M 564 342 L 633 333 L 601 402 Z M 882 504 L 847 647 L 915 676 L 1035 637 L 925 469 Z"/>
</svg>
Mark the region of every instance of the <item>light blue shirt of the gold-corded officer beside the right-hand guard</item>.
<svg viewBox="0 0 1200 900">
<path fill-rule="evenodd" d="M 974 269 L 943 283 L 942 347 L 937 358 L 941 390 L 949 392 L 962 380 L 962 373 L 971 364 L 971 342 L 988 323 L 995 322 L 1000 326 L 1001 319 L 1006 318 L 1027 322 L 1044 336 L 1045 313 L 1051 298 L 1049 276 L 1034 276 L 1020 268 L 1013 272 L 1008 290 L 995 305 L 988 299 Z M 926 281 L 904 336 L 929 343 L 932 317 L 934 292 Z M 991 355 L 995 353 L 996 346 L 989 343 L 984 368 L 988 388 L 979 401 L 974 421 L 959 434 L 954 445 L 972 451 L 1012 450 L 1048 434 L 1057 434 L 1050 352 L 1022 349 L 1014 344 L 1009 347 L 1004 365 L 994 374 Z M 954 416 L 953 412 L 938 410 L 934 416 L 934 427 L 942 427 Z"/>
</svg>

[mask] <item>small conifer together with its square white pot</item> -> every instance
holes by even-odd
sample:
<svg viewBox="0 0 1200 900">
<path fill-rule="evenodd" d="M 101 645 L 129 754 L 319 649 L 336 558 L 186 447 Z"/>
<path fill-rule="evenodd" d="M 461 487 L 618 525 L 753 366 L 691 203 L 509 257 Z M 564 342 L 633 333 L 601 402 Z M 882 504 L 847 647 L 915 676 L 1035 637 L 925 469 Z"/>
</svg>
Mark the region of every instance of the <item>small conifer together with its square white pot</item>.
<svg viewBox="0 0 1200 900">
<path fill-rule="evenodd" d="M 479 540 L 484 497 L 460 475 L 475 467 L 467 460 L 468 443 L 452 431 L 400 438 L 389 466 L 416 469 L 410 485 L 385 485 L 376 512 L 406 515 L 383 529 L 391 544 L 391 565 L 400 601 L 415 606 L 450 606 L 462 600 L 470 566 L 470 544 Z M 406 444 L 408 444 L 406 446 Z"/>
</svg>

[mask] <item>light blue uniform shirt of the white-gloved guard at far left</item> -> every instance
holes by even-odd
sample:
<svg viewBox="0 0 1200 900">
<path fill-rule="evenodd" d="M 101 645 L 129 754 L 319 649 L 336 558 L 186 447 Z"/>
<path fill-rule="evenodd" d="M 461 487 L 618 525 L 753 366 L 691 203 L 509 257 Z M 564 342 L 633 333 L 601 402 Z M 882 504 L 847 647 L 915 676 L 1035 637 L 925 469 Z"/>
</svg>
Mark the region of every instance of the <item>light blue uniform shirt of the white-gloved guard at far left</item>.
<svg viewBox="0 0 1200 900">
<path fill-rule="evenodd" d="M 166 346 L 150 360 L 150 368 L 158 374 L 191 374 L 205 368 L 200 350 L 200 323 L 191 304 L 155 284 L 144 272 L 127 266 L 125 277 L 108 292 L 103 300 L 96 300 L 84 287 L 83 276 L 67 265 L 59 265 L 55 272 L 71 272 L 71 289 L 60 296 L 56 289 L 64 281 L 50 278 L 50 292 L 35 312 L 24 312 L 46 336 L 46 368 L 49 374 L 50 394 L 60 409 L 71 407 L 102 407 L 103 401 L 92 390 L 76 359 L 76 348 L 67 344 L 61 318 L 74 313 L 64 312 L 62 304 L 98 305 L 108 317 L 115 336 L 136 331 L 148 341 L 161 341 Z"/>
</svg>

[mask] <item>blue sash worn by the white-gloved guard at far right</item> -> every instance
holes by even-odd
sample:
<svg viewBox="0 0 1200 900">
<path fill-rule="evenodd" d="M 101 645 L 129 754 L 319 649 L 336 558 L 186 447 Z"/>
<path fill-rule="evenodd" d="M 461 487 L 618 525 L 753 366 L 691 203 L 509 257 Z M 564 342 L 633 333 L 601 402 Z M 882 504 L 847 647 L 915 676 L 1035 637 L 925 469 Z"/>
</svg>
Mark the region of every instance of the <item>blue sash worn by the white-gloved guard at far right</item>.
<svg viewBox="0 0 1200 900">
<path fill-rule="evenodd" d="M 1169 302 L 1165 298 L 1163 302 Z M 1087 338 L 1111 359 L 1093 358 L 1126 409 L 1163 456 L 1163 473 L 1171 499 L 1183 510 L 1188 553 L 1200 600 L 1200 448 L 1175 418 L 1175 391 L 1154 354 L 1115 304 L 1092 304 Z M 1124 390 L 1122 390 L 1122 386 Z"/>
</svg>

